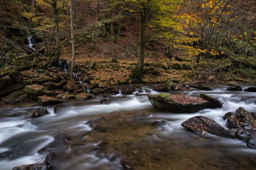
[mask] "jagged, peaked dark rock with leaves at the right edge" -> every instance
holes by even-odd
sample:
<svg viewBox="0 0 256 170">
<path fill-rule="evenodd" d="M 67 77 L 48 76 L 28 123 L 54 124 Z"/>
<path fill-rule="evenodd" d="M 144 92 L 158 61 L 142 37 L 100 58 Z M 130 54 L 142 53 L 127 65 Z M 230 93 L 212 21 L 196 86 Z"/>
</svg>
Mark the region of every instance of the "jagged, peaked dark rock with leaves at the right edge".
<svg viewBox="0 0 256 170">
<path fill-rule="evenodd" d="M 256 129 L 256 113 L 239 108 L 236 113 L 227 113 L 227 123 L 230 128 Z"/>
</svg>

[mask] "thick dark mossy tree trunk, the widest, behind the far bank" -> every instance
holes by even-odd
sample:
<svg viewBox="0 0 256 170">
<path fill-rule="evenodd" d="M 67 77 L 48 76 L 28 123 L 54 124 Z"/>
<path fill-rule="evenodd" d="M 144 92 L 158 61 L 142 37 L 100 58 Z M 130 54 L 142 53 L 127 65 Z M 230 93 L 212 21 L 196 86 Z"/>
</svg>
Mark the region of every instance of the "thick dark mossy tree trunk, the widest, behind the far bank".
<svg viewBox="0 0 256 170">
<path fill-rule="evenodd" d="M 146 8 L 144 7 L 140 12 L 140 38 L 139 38 L 139 56 L 137 71 L 135 73 L 135 78 L 141 80 L 143 77 L 143 67 L 144 67 L 144 56 L 145 56 L 145 28 L 146 28 Z"/>
</svg>

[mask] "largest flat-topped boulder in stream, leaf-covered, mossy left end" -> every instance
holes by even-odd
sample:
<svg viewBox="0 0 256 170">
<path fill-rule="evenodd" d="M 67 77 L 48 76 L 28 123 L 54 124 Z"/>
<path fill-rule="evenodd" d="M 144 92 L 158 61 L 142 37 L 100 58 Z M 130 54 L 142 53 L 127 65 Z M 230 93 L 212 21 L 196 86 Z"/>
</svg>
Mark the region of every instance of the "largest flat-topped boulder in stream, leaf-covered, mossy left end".
<svg viewBox="0 0 256 170">
<path fill-rule="evenodd" d="M 148 96 L 151 104 L 161 110 L 175 113 L 192 113 L 208 107 L 209 102 L 194 96 L 183 94 L 158 94 Z"/>
</svg>

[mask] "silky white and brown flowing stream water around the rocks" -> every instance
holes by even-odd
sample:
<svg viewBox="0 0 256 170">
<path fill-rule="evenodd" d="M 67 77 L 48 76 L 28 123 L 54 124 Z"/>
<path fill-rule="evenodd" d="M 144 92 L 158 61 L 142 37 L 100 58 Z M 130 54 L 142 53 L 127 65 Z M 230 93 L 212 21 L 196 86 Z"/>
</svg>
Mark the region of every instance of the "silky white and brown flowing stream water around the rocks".
<svg viewBox="0 0 256 170">
<path fill-rule="evenodd" d="M 102 98 L 98 97 L 48 106 L 49 114 L 35 119 L 30 117 L 39 107 L 36 103 L 1 106 L 0 152 L 9 150 L 9 154 L 0 156 L 0 169 L 44 162 L 47 154 L 54 152 L 54 167 L 60 170 L 255 170 L 256 150 L 245 142 L 198 136 L 180 125 L 203 115 L 227 128 L 222 119 L 225 113 L 239 107 L 256 111 L 256 93 L 214 88 L 175 92 L 205 93 L 224 103 L 220 109 L 197 113 L 154 109 L 148 95 L 157 92 L 149 87 L 133 95 L 109 96 L 108 105 L 100 104 Z M 168 125 L 154 126 L 155 120 Z"/>
</svg>

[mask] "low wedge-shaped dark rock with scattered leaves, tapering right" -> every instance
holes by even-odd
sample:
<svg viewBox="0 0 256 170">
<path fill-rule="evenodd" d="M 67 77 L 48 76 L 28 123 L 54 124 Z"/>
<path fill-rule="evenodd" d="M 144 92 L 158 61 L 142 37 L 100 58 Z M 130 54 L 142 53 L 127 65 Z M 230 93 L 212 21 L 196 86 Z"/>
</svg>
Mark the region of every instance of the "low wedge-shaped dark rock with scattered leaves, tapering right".
<svg viewBox="0 0 256 170">
<path fill-rule="evenodd" d="M 198 135 L 206 136 L 208 134 L 221 136 L 226 138 L 235 139 L 236 137 L 228 132 L 224 127 L 215 122 L 214 120 L 204 117 L 204 116 L 195 116 L 185 122 L 181 123 L 181 126 L 186 127 Z"/>
</svg>

